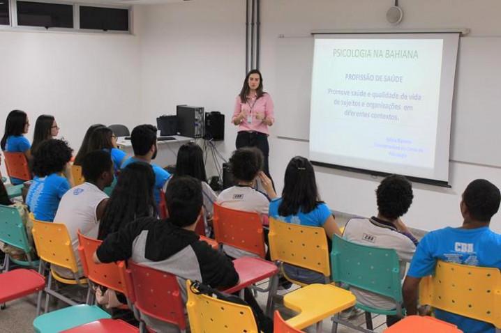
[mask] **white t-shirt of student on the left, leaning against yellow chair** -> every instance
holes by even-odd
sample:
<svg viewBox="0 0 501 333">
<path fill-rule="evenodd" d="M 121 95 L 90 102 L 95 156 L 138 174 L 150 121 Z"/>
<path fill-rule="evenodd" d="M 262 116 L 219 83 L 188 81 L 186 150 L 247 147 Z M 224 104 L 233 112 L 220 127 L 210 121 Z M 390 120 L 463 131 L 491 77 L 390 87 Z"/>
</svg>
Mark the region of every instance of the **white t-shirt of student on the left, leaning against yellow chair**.
<svg viewBox="0 0 501 333">
<path fill-rule="evenodd" d="M 96 185 L 83 183 L 75 186 L 66 192 L 61 198 L 59 208 L 57 209 L 54 222 L 66 224 L 68 234 L 70 235 L 71 245 L 75 258 L 77 259 L 80 276 L 82 265 L 78 255 L 78 236 L 77 231 L 91 238 L 98 237 L 99 221 L 96 216 L 98 205 L 104 199 L 107 199 L 105 192 L 101 191 Z M 73 278 L 73 274 L 64 268 L 55 267 L 54 270 L 63 277 Z"/>
</svg>

